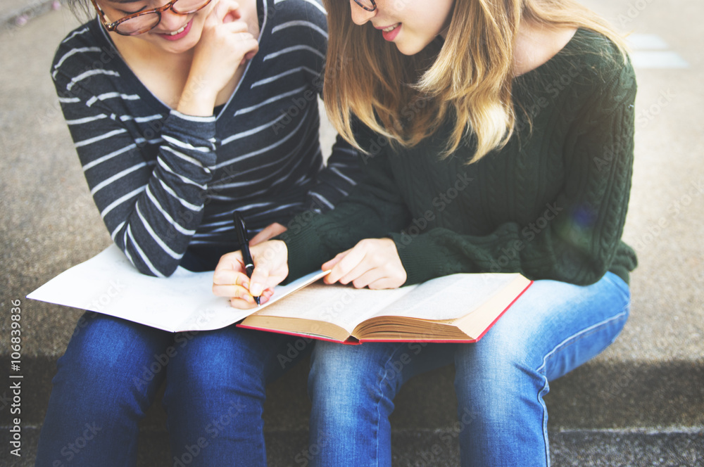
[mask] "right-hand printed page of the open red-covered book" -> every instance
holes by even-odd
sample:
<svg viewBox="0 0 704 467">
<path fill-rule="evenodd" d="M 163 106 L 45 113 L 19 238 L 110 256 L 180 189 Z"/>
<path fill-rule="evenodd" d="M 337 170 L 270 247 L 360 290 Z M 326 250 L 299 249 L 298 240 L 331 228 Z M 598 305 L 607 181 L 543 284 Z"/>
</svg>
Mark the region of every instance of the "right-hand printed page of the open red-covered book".
<svg viewBox="0 0 704 467">
<path fill-rule="evenodd" d="M 424 282 L 373 316 L 446 320 L 472 312 L 519 274 L 452 274 Z M 470 300 L 471 298 L 471 300 Z"/>
</svg>

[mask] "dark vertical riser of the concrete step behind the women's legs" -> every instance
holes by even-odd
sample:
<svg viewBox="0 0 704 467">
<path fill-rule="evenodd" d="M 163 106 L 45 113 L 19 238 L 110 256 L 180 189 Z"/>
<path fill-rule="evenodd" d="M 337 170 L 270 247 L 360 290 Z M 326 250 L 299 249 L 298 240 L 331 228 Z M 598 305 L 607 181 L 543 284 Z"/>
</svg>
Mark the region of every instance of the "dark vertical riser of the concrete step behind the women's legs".
<svg viewBox="0 0 704 467">
<path fill-rule="evenodd" d="M 46 357 L 23 363 L 23 423 L 29 426 L 44 420 L 54 364 Z M 0 368 L 9 365 L 8 359 L 0 359 Z M 268 429 L 307 429 L 307 369 L 307 362 L 301 362 L 268 388 L 264 414 Z M 452 381 L 449 366 L 408 381 L 396 397 L 393 425 L 404 429 L 452 426 L 456 420 Z M 609 364 L 600 357 L 551 383 L 546 397 L 548 426 L 555 430 L 704 427 L 703 382 L 704 366 L 692 362 L 636 366 Z M 0 398 L 7 395 L 8 390 L 0 390 Z M 164 426 L 161 404 L 153 404 L 144 423 L 149 429 Z"/>
</svg>

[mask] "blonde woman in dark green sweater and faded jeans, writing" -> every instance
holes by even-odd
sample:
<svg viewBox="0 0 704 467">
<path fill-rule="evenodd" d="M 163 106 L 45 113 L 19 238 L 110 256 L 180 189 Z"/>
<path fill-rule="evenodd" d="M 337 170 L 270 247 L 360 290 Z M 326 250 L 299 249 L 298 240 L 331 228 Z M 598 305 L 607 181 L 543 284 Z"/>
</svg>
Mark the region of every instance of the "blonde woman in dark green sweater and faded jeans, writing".
<svg viewBox="0 0 704 467">
<path fill-rule="evenodd" d="M 240 252 L 222 257 L 213 290 L 251 307 L 321 265 L 358 288 L 524 274 L 534 285 L 476 344 L 316 343 L 313 463 L 389 466 L 394 395 L 453 363 L 463 466 L 549 465 L 548 382 L 629 312 L 636 83 L 622 40 L 571 0 L 325 3 L 327 69 L 347 70 L 326 77 L 327 111 L 367 178 L 252 248 L 251 279 Z"/>
</svg>

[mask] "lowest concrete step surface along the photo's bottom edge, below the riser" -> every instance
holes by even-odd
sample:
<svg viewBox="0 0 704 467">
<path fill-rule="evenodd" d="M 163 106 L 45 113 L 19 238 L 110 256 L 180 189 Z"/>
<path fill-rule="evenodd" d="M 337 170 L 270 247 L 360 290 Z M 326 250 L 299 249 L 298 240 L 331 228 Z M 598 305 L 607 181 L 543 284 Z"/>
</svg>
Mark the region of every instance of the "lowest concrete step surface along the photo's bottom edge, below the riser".
<svg viewBox="0 0 704 467">
<path fill-rule="evenodd" d="M 3 449 L 0 464 L 34 466 L 37 428 L 24 430 L 23 456 Z M 306 467 L 315 455 L 305 430 L 266 433 L 267 459 L 272 467 Z M 396 430 L 392 434 L 393 467 L 455 467 L 460 449 L 451 429 Z M 570 430 L 550 432 L 553 467 L 700 467 L 704 465 L 704 432 L 694 430 Z M 171 467 L 168 436 L 144 430 L 137 467 Z M 234 463 L 233 463 L 234 465 Z M 225 466 L 218 466 L 225 467 Z"/>
</svg>

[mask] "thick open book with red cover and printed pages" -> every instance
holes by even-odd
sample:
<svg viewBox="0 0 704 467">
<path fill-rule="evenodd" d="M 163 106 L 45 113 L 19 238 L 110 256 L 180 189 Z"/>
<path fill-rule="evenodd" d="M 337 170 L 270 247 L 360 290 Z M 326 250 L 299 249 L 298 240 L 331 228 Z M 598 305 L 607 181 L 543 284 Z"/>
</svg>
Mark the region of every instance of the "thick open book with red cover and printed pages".
<svg viewBox="0 0 704 467">
<path fill-rule="evenodd" d="M 344 343 L 475 342 L 531 283 L 520 274 L 453 274 L 390 290 L 313 283 L 238 326 Z"/>
</svg>

